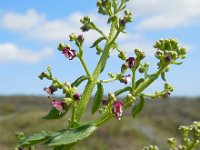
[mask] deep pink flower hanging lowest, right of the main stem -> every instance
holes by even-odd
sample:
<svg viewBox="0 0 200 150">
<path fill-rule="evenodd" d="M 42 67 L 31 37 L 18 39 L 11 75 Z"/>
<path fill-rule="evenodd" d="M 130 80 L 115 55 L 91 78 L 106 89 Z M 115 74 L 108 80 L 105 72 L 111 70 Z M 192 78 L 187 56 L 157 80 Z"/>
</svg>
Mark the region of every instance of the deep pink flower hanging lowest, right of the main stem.
<svg viewBox="0 0 200 150">
<path fill-rule="evenodd" d="M 118 120 L 121 120 L 123 103 L 121 101 L 114 101 L 112 112 Z"/>
</svg>

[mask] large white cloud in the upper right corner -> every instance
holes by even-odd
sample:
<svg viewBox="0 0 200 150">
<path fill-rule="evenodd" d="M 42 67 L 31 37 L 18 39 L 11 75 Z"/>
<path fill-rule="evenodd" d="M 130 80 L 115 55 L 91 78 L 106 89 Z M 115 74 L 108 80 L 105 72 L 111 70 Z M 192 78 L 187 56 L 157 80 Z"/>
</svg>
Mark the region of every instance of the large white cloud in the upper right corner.
<svg viewBox="0 0 200 150">
<path fill-rule="evenodd" d="M 141 17 L 141 29 L 169 29 L 199 23 L 199 0 L 139 0 L 131 1 L 136 17 Z"/>
</svg>

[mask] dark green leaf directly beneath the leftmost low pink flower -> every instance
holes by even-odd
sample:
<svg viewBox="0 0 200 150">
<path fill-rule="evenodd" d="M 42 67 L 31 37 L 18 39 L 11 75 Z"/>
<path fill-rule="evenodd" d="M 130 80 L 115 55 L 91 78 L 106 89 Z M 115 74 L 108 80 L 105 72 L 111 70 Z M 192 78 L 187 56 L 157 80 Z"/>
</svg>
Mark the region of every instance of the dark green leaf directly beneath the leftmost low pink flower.
<svg viewBox="0 0 200 150">
<path fill-rule="evenodd" d="M 67 110 L 65 110 L 65 112 L 60 113 L 55 107 L 51 108 L 51 110 L 49 111 L 49 113 L 42 117 L 43 119 L 47 119 L 47 120 L 52 120 L 52 119 L 60 119 L 63 116 L 66 115 L 66 113 L 69 110 L 69 106 L 67 107 Z"/>
</svg>

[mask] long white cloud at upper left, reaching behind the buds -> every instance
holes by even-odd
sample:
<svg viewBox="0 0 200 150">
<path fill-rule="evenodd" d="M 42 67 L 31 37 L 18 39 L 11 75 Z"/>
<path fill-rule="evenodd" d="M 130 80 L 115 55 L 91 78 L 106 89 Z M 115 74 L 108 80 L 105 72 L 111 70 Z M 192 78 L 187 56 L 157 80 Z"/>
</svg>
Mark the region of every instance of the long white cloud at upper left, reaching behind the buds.
<svg viewBox="0 0 200 150">
<path fill-rule="evenodd" d="M 74 12 L 66 18 L 48 20 L 44 14 L 38 13 L 36 10 L 30 9 L 25 13 L 9 12 L 1 16 L 0 28 L 22 34 L 26 38 L 34 39 L 41 42 L 60 42 L 68 38 L 71 33 L 80 34 L 80 19 L 83 16 L 90 16 L 91 20 L 97 22 L 103 31 L 106 30 L 105 22 L 102 18 L 93 13 L 83 14 Z M 96 32 L 84 33 L 87 35 L 86 42 L 91 39 L 98 38 Z"/>
</svg>

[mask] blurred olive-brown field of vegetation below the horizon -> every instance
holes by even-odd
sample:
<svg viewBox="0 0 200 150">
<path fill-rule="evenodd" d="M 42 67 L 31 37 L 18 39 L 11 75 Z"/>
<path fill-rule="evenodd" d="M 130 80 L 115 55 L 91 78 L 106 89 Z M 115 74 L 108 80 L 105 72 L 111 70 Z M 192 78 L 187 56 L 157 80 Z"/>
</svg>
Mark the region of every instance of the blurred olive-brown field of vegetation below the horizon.
<svg viewBox="0 0 200 150">
<path fill-rule="evenodd" d="M 0 150 L 15 146 L 15 131 L 30 135 L 41 130 L 64 128 L 66 117 L 53 122 L 42 119 L 50 108 L 46 97 L 1 96 Z M 150 144 L 158 145 L 162 150 L 168 149 L 168 137 L 178 138 L 180 142 L 180 125 L 200 120 L 200 98 L 147 100 L 143 111 L 135 119 L 129 112 L 124 112 L 121 121 L 113 118 L 74 150 L 139 150 Z M 90 112 L 85 117 L 92 118 Z M 37 149 L 47 148 L 39 145 Z"/>
</svg>

